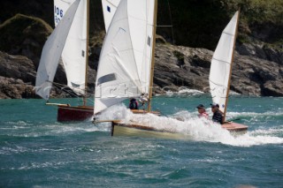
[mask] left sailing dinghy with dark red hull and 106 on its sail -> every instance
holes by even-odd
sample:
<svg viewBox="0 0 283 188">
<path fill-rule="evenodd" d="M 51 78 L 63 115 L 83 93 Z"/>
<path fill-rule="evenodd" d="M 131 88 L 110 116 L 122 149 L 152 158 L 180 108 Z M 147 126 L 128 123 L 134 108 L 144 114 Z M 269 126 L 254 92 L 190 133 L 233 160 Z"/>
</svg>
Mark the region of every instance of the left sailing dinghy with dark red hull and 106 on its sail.
<svg viewBox="0 0 283 188">
<path fill-rule="evenodd" d="M 37 70 L 35 93 L 46 101 L 60 57 L 65 67 L 67 86 L 83 96 L 82 106 L 71 107 L 57 104 L 57 121 L 82 121 L 93 116 L 93 107 L 88 107 L 86 98 L 88 67 L 88 8 L 89 0 L 54 0 L 56 28 L 42 49 Z"/>
</svg>

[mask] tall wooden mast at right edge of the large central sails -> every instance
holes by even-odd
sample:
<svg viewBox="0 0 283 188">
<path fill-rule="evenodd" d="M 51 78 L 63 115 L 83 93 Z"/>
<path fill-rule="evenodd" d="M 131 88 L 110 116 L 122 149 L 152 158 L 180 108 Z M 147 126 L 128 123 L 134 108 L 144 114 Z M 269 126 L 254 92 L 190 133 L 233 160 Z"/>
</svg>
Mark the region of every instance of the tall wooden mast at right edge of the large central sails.
<svg viewBox="0 0 283 188">
<path fill-rule="evenodd" d="M 153 29 L 152 29 L 152 52 L 151 52 L 151 67 L 149 74 L 149 104 L 148 111 L 151 110 L 151 98 L 152 98 L 152 86 L 153 86 L 153 74 L 154 74 L 154 64 L 155 64 L 155 48 L 156 48 L 156 32 L 157 32 L 157 0 L 154 0 L 154 19 L 153 19 Z"/>
</svg>

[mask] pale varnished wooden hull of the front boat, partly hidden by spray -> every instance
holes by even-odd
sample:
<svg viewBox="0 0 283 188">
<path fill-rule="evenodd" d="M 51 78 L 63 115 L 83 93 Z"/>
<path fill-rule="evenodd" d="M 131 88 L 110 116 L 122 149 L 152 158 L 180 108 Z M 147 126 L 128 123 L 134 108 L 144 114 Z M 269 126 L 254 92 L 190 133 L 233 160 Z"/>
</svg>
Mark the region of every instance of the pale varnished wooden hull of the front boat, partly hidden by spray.
<svg viewBox="0 0 283 188">
<path fill-rule="evenodd" d="M 226 122 L 222 124 L 222 128 L 231 132 L 233 135 L 241 135 L 247 132 L 248 126 Z M 144 126 L 141 124 L 124 124 L 120 121 L 111 122 L 111 136 L 134 136 L 143 138 L 158 138 L 158 139 L 190 139 L 191 137 L 180 132 L 160 131 L 153 127 Z"/>
</svg>

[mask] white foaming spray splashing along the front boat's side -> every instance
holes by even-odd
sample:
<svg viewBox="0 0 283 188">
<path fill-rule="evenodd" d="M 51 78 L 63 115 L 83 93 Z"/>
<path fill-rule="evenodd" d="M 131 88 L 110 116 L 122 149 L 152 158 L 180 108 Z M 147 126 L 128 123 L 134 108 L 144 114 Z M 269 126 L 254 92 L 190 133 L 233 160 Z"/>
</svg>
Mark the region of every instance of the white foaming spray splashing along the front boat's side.
<svg viewBox="0 0 283 188">
<path fill-rule="evenodd" d="M 214 124 L 209 119 L 196 117 L 195 112 L 180 111 L 173 117 L 157 117 L 153 114 L 133 114 L 129 109 L 126 109 L 125 105 L 116 105 L 105 111 L 99 118 L 123 119 L 126 123 L 134 121 L 159 131 L 180 132 L 193 140 L 220 142 L 238 147 L 283 143 L 283 138 L 272 136 L 271 130 L 248 132 L 235 137 L 226 129 L 222 129 L 219 124 Z M 283 132 L 283 127 L 279 127 L 277 132 Z"/>
</svg>

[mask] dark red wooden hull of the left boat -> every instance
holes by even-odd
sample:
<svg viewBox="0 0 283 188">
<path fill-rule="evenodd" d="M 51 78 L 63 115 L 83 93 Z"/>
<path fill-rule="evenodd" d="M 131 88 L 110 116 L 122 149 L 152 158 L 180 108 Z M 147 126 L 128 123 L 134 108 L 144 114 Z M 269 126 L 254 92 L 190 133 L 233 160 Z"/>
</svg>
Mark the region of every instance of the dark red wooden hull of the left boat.
<svg viewBox="0 0 283 188">
<path fill-rule="evenodd" d="M 58 105 L 57 107 L 58 122 L 84 121 L 94 115 L 93 107 L 71 107 L 68 105 Z"/>
</svg>

